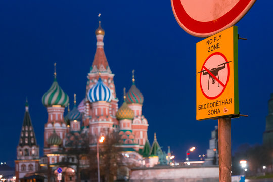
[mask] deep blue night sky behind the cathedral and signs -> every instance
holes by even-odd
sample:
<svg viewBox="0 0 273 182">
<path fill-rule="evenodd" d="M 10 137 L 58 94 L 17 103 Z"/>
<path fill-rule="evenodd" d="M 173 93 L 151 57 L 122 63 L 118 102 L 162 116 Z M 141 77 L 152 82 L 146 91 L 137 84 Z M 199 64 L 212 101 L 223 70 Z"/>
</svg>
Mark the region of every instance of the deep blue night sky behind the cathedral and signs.
<svg viewBox="0 0 273 182">
<path fill-rule="evenodd" d="M 232 119 L 232 151 L 243 143 L 261 144 L 273 93 L 272 1 L 257 1 L 237 23 L 239 40 L 239 110 Z M 28 97 L 42 154 L 47 111 L 42 95 L 57 80 L 69 95 L 85 96 L 87 73 L 96 51 L 95 30 L 101 13 L 105 53 L 115 74 L 117 96 L 131 86 L 144 95 L 143 114 L 163 150 L 178 159 L 206 153 L 217 120 L 196 121 L 196 42 L 177 24 L 170 1 L 0 1 L 1 152 L 0 162 L 14 165 Z M 71 100 L 70 100 L 70 103 Z"/>
</svg>

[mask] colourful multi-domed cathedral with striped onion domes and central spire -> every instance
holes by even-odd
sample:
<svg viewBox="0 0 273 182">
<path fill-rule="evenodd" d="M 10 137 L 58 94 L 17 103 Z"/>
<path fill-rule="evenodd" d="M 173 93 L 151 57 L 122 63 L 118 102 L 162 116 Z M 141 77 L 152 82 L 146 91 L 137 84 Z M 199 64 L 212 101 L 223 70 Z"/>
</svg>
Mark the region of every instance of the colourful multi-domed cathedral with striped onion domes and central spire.
<svg viewBox="0 0 273 182">
<path fill-rule="evenodd" d="M 67 156 L 63 154 L 67 148 L 77 144 L 83 145 L 88 136 L 89 148 L 96 147 L 100 136 L 107 136 L 117 132 L 119 147 L 128 159 L 138 166 L 152 167 L 158 163 L 158 152 L 162 150 L 156 140 L 152 146 L 147 138 L 148 121 L 142 114 L 144 97 L 136 87 L 134 71 L 132 85 L 128 92 L 124 88 L 123 104 L 118 108 L 119 99 L 116 96 L 114 74 L 112 73 L 104 52 L 105 31 L 99 27 L 95 31 L 97 49 L 90 72 L 87 74 L 85 87 L 86 96 L 77 105 L 74 94 L 73 109 L 69 110 L 69 97 L 62 90 L 56 74 L 47 92 L 41 98 L 42 104 L 48 112 L 48 120 L 44 125 L 44 156 L 39 156 L 39 146 L 35 138 L 34 128 L 29 114 L 29 104 L 26 101 L 25 116 L 17 146 L 17 160 L 15 161 L 16 180 L 34 175 L 37 171 L 52 169 L 54 177 L 45 179 L 57 181 L 57 169 Z M 65 108 L 68 113 L 64 116 Z M 70 162 L 75 158 L 70 157 Z M 80 166 L 88 166 L 84 159 Z M 62 181 L 75 181 L 76 166 L 62 167 Z M 35 173 L 36 172 L 36 173 Z"/>
</svg>

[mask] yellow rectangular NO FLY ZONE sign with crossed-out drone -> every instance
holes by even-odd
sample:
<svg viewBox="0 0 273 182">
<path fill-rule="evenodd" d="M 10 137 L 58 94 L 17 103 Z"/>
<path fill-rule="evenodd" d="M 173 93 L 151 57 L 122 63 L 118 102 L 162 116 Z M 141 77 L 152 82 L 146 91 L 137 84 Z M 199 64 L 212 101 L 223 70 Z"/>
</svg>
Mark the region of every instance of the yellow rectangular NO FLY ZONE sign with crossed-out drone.
<svg viewBox="0 0 273 182">
<path fill-rule="evenodd" d="M 196 44 L 196 119 L 222 116 L 239 116 L 236 26 Z"/>
</svg>

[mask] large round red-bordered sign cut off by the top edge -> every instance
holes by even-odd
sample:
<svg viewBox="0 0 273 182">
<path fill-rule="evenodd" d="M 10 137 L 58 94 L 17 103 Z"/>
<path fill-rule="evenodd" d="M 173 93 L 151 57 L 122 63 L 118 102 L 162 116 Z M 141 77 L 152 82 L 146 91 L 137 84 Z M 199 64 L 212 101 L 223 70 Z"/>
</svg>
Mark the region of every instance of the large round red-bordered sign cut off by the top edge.
<svg viewBox="0 0 273 182">
<path fill-rule="evenodd" d="M 256 0 L 171 0 L 178 24 L 189 34 L 208 37 L 236 24 Z"/>
</svg>

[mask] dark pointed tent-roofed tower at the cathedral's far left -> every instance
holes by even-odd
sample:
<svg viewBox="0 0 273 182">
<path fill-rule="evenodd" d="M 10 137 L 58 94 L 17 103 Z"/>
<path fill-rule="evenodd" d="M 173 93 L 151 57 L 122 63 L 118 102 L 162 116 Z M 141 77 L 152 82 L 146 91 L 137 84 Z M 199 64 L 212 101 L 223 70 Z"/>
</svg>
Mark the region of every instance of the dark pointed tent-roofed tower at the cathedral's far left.
<svg viewBox="0 0 273 182">
<path fill-rule="evenodd" d="M 28 102 L 25 105 L 25 117 L 17 146 L 17 160 L 15 161 L 16 181 L 27 173 L 39 168 L 39 146 L 37 145 L 34 129 L 28 111 Z"/>
</svg>

